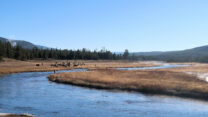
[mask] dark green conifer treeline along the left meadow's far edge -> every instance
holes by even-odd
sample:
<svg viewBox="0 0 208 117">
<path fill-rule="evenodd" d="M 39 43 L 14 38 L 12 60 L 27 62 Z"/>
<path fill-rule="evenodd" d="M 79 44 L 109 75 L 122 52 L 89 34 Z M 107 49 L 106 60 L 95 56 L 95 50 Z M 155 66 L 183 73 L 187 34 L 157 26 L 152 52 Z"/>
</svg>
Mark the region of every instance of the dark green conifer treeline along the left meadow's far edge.
<svg viewBox="0 0 208 117">
<path fill-rule="evenodd" d="M 102 49 L 100 51 L 82 50 L 61 50 L 61 49 L 24 49 L 21 46 L 13 47 L 9 42 L 0 41 L 0 59 L 3 57 L 18 60 L 32 59 L 82 59 L 82 60 L 119 60 L 124 59 L 118 55 Z M 126 55 L 125 55 L 126 58 Z"/>
</svg>

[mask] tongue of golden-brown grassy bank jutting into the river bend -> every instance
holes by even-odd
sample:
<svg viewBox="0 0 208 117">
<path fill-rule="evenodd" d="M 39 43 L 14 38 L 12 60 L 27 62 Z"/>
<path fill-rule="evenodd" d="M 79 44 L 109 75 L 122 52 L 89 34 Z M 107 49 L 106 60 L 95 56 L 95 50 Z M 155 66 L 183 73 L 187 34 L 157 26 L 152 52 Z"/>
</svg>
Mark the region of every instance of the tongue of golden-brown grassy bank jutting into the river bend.
<svg viewBox="0 0 208 117">
<path fill-rule="evenodd" d="M 165 70 L 95 70 L 59 73 L 49 80 L 78 86 L 138 91 L 208 100 L 208 84 L 195 76 Z"/>
</svg>

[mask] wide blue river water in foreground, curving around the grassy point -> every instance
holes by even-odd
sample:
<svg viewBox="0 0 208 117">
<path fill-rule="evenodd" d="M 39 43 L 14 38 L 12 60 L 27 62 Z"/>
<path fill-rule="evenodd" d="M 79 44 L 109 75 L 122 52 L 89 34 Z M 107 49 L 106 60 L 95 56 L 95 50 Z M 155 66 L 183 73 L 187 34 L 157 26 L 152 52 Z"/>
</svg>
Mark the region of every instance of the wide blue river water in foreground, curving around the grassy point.
<svg viewBox="0 0 208 117">
<path fill-rule="evenodd" d="M 208 102 L 57 84 L 47 79 L 52 73 L 1 77 L 0 113 L 37 117 L 208 117 Z"/>
</svg>

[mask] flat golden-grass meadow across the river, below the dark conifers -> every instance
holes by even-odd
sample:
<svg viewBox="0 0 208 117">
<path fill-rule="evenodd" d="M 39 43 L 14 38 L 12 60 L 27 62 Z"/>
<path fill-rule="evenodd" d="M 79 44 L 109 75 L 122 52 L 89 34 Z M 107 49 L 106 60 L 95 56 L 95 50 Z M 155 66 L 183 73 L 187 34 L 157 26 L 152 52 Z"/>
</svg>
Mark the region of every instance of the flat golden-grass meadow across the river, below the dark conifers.
<svg viewBox="0 0 208 117">
<path fill-rule="evenodd" d="M 19 61 L 14 59 L 4 58 L 4 62 L 0 62 L 0 75 L 18 72 L 39 72 L 39 71 L 53 71 L 53 70 L 67 70 L 74 68 L 88 68 L 88 69 L 108 69 L 117 67 L 145 67 L 154 66 L 143 62 L 131 62 L 131 61 L 82 61 L 82 60 L 70 60 L 71 63 L 83 62 L 85 65 L 77 67 L 53 67 L 51 64 L 67 62 L 67 60 L 30 60 Z M 40 64 L 40 66 L 36 66 Z"/>
</svg>

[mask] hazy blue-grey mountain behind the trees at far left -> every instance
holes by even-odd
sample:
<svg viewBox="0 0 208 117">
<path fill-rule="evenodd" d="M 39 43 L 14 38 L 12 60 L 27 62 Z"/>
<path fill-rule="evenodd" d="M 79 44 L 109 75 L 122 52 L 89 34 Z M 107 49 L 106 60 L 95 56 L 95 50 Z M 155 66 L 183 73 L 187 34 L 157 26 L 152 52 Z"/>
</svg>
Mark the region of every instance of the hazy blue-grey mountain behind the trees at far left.
<svg viewBox="0 0 208 117">
<path fill-rule="evenodd" d="M 40 46 L 40 45 L 35 45 L 33 43 L 30 43 L 30 42 L 27 42 L 27 41 L 23 41 L 23 40 L 11 40 L 11 39 L 6 39 L 6 38 L 3 38 L 3 37 L 0 37 L 0 41 L 6 43 L 6 42 L 10 42 L 12 46 L 21 46 L 25 49 L 32 49 L 34 47 L 37 47 L 39 49 L 50 49 L 48 47 L 45 47 L 45 46 Z"/>
</svg>

